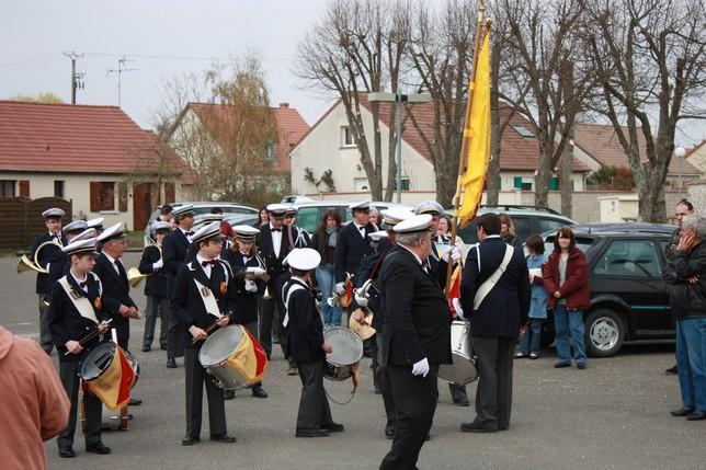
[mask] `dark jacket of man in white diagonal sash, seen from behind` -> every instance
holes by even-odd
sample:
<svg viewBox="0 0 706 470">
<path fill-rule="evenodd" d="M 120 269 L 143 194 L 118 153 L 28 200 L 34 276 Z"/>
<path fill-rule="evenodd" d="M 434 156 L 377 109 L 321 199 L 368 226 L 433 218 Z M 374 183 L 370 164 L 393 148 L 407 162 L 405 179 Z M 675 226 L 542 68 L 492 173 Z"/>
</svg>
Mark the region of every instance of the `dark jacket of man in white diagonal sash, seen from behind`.
<svg viewBox="0 0 706 470">
<path fill-rule="evenodd" d="M 486 296 L 478 310 L 472 311 L 478 288 L 500 266 L 506 247 L 499 237 L 492 237 L 468 250 L 460 279 L 460 306 L 464 316 L 470 318 L 470 331 L 474 336 L 517 337 L 520 326 L 527 322 L 532 298 L 530 273 L 524 253 L 517 249 L 498 284 Z"/>
</svg>

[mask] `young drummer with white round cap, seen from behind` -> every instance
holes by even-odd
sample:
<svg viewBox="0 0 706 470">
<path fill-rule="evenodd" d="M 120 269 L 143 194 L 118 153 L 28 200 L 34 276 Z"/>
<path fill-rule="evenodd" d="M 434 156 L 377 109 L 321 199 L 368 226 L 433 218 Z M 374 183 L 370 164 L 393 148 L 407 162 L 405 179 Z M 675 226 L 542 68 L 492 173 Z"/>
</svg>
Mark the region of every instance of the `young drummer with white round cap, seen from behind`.
<svg viewBox="0 0 706 470">
<path fill-rule="evenodd" d="M 284 324 L 289 334 L 289 349 L 297 362 L 301 380 L 301 399 L 297 414 L 296 437 L 324 437 L 343 431 L 331 417 L 329 401 L 323 392 L 326 353 L 333 349 L 323 341 L 323 323 L 316 307 L 311 288 L 311 271 L 321 255 L 310 248 L 296 249 L 287 256 L 292 278 L 283 290 Z"/>
</svg>

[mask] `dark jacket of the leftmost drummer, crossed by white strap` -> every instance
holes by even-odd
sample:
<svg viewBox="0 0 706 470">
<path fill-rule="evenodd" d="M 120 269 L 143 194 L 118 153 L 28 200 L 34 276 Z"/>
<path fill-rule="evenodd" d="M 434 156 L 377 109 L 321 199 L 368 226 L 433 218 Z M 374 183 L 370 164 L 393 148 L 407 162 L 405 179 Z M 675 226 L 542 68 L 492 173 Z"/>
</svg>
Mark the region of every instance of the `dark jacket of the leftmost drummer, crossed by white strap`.
<svg viewBox="0 0 706 470">
<path fill-rule="evenodd" d="M 102 305 L 102 300 L 96 301 L 96 299 L 100 298 L 99 293 L 101 283 L 98 276 L 89 273 L 88 294 L 78 285 L 73 276 L 68 275 L 67 279 L 76 294 L 81 297 L 87 297 L 91 301 L 93 312 L 95 312 L 95 318 L 99 322 L 109 319 L 110 316 L 105 311 L 105 306 Z M 98 324 L 93 323 L 92 320 L 81 317 L 81 313 L 79 313 L 78 309 L 59 283 L 55 283 L 52 286 L 49 307 L 47 309 L 47 324 L 49 326 L 49 333 L 52 334 L 52 341 L 59 352 L 59 360 L 62 363 L 82 360 L 83 357 L 86 357 L 87 352 L 100 342 L 99 337 L 95 336 L 83 344 L 84 351 L 80 354 L 65 355 L 67 351 L 66 343 L 68 341 L 81 340 L 83 336 L 98 329 Z M 110 334 L 105 335 L 105 340 L 110 340 Z"/>
</svg>

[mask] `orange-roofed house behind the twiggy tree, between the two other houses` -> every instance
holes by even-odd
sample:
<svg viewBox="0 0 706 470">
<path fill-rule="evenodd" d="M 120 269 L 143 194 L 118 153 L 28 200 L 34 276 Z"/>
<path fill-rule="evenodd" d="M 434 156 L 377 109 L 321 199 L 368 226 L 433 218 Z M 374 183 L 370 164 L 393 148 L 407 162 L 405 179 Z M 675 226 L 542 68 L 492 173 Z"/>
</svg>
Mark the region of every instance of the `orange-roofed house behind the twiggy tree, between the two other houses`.
<svg viewBox="0 0 706 470">
<path fill-rule="evenodd" d="M 275 119 L 277 141 L 267 144 L 266 159 L 272 163 L 267 171 L 275 176 L 269 183 L 277 186 L 272 187 L 277 191 L 289 185 L 288 154 L 295 144 L 309 131 L 309 125 L 296 108 L 289 106 L 289 103 L 280 103 L 276 107 L 270 107 L 270 112 Z M 229 146 L 229 142 L 226 141 L 229 136 L 224 137 L 223 129 L 232 127 L 227 124 L 231 119 L 229 106 L 226 104 L 189 103 L 169 129 L 167 142 L 182 159 L 192 164 L 194 171 L 197 171 L 190 152 L 194 151 L 195 146 L 201 147 L 200 151 L 206 154 L 215 156 L 223 152 Z M 205 141 L 196 142 L 194 136 L 203 137 Z M 189 194 L 190 188 L 184 185 L 184 193 Z M 203 195 L 193 194 L 193 192 L 192 196 L 203 197 Z"/>
</svg>

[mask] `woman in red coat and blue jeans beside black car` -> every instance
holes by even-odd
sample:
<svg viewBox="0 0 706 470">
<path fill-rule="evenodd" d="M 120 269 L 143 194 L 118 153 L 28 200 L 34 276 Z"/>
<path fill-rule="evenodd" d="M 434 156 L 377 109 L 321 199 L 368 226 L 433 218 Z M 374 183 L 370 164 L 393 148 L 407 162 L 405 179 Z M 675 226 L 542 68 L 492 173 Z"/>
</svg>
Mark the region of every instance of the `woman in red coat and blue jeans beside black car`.
<svg viewBox="0 0 706 470">
<path fill-rule="evenodd" d="M 583 311 L 590 305 L 589 272 L 585 255 L 576 248 L 576 238 L 570 228 L 563 227 L 557 231 L 554 252 L 542 266 L 542 277 L 549 295 L 547 307 L 554 309 L 555 344 L 559 356 L 554 367 L 571 366 L 573 346 L 576 366 L 584 369 Z"/>
</svg>

